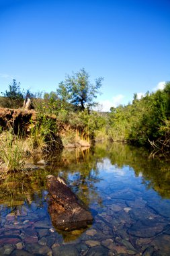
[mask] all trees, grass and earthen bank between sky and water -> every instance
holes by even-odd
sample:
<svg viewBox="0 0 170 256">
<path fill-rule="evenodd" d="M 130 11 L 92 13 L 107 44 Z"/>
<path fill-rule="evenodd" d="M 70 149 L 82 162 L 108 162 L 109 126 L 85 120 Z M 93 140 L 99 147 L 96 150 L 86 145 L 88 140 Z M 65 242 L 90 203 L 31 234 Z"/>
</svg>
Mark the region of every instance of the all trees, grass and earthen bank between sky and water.
<svg viewBox="0 0 170 256">
<path fill-rule="evenodd" d="M 0 164 L 5 163 L 6 172 L 22 169 L 35 152 L 48 154 L 105 139 L 151 147 L 151 156 L 169 158 L 170 82 L 163 90 L 146 92 L 141 99 L 134 94 L 132 103 L 102 113 L 94 110 L 102 80 L 91 84 L 81 69 L 67 75 L 56 92 L 32 93 L 13 79 L 0 97 Z"/>
</svg>

